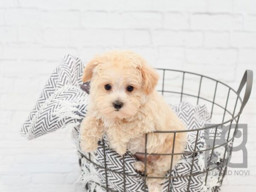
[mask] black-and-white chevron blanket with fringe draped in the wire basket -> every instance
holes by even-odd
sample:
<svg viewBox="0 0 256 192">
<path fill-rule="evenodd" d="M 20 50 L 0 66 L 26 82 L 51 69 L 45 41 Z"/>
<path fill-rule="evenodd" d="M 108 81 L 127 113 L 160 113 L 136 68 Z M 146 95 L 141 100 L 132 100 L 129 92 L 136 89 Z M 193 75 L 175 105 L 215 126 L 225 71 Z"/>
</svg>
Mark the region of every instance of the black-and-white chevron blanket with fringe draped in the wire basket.
<svg viewBox="0 0 256 192">
<path fill-rule="evenodd" d="M 76 139 L 77 148 L 80 151 L 79 125 L 86 114 L 88 102 L 86 87 L 85 89 L 81 89 L 80 87 L 82 84 L 81 76 L 83 68 L 84 66 L 79 58 L 73 55 L 64 56 L 61 63 L 49 77 L 35 107 L 20 130 L 20 133 L 24 137 L 32 140 L 52 131 L 70 127 L 73 128 L 73 135 Z M 210 122 L 210 116 L 205 105 L 193 106 L 185 102 L 172 105 L 172 108 L 188 129 L 200 128 Z M 206 148 L 207 144 L 203 131 L 199 132 L 196 146 L 195 138 L 195 131 L 188 135 L 185 151 L 192 152 L 195 148 L 196 150 L 204 150 Z M 105 145 L 108 146 L 107 141 Z M 221 152 L 217 153 L 221 154 Z M 213 154 L 216 154 L 216 151 L 214 151 Z M 144 191 L 143 178 L 136 177 L 140 176 L 140 174 L 134 169 L 133 163 L 136 158 L 133 154 L 129 152 L 125 154 L 125 173 L 129 175 L 125 177 L 122 175 L 124 171 L 122 157 L 111 148 L 107 147 L 103 149 L 99 147 L 90 158 L 102 167 L 104 167 L 106 162 L 107 168 L 114 172 L 105 172 L 105 169 L 93 165 L 93 163 L 88 162 L 85 157 L 89 158 L 88 154 L 83 154 L 80 151 L 81 181 L 84 185 L 87 184 L 87 186 L 89 186 L 89 191 L 94 191 L 94 189 L 97 192 L 105 191 L 101 186 L 105 186 L 107 181 L 108 187 L 112 188 L 114 191 L 122 192 L 124 191 L 124 180 L 127 192 Z M 209 175 L 206 183 L 205 174 L 197 174 L 205 171 L 205 153 L 202 151 L 195 155 L 193 168 L 191 169 L 192 157 L 192 154 L 183 155 L 172 169 L 172 172 L 168 173 L 168 175 L 175 177 L 171 180 L 170 192 L 186 192 L 189 180 L 189 192 L 210 192 L 213 187 L 220 186 L 218 182 L 219 174 Z M 211 163 L 219 162 L 215 160 Z M 191 174 L 191 177 L 180 177 Z M 132 177 L 133 175 L 135 177 Z M 166 180 L 163 184 L 163 191 L 167 191 L 167 188 L 168 181 Z"/>
</svg>

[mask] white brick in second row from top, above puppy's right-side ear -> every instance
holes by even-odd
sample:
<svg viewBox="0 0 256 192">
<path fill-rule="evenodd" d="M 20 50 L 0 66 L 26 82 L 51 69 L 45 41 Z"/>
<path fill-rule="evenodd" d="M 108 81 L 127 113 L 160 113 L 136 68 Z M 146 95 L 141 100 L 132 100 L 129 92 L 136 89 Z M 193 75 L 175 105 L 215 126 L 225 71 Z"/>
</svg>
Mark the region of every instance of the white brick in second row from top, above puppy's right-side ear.
<svg viewBox="0 0 256 192">
<path fill-rule="evenodd" d="M 123 19 L 125 28 L 151 29 L 163 25 L 162 14 L 158 12 L 125 12 Z"/>
</svg>

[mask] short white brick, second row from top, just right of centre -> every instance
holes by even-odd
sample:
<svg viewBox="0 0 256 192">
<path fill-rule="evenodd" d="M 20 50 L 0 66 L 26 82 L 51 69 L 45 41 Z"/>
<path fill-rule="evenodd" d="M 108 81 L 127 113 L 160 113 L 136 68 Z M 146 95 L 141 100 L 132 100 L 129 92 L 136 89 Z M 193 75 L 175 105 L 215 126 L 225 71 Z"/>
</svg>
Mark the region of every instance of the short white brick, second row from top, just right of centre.
<svg viewBox="0 0 256 192">
<path fill-rule="evenodd" d="M 165 13 L 163 27 L 166 29 L 189 29 L 188 14 Z"/>
</svg>

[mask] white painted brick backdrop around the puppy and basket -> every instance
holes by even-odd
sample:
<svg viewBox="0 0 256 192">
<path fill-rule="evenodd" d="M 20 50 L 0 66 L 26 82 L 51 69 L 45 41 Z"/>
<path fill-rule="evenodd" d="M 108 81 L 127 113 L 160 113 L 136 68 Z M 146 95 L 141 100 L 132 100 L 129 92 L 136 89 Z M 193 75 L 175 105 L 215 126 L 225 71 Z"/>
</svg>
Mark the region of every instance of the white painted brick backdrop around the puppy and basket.
<svg viewBox="0 0 256 192">
<path fill-rule="evenodd" d="M 154 67 L 203 73 L 236 89 L 245 69 L 256 73 L 256 1 L 0 0 L 1 192 L 82 191 L 68 133 L 26 141 L 17 132 L 65 54 L 86 63 L 113 48 L 132 49 Z M 227 176 L 222 191 L 256 189 L 255 85 L 240 119 L 249 125 L 250 176 Z"/>
</svg>

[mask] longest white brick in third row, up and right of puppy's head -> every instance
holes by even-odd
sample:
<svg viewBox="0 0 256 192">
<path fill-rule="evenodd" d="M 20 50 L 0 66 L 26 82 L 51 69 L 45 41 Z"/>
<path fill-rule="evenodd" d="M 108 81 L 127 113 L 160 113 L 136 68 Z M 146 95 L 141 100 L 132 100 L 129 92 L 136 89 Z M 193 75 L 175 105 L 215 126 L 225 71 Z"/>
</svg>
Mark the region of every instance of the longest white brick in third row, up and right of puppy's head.
<svg viewBox="0 0 256 192">
<path fill-rule="evenodd" d="M 176 32 L 156 30 L 152 32 L 152 41 L 155 45 L 199 47 L 203 44 L 202 32 Z"/>
</svg>

